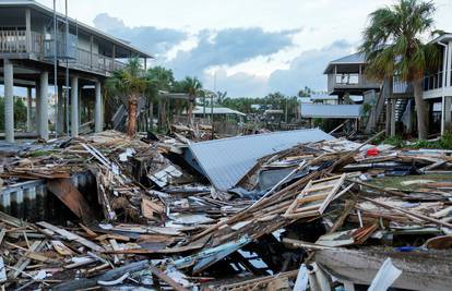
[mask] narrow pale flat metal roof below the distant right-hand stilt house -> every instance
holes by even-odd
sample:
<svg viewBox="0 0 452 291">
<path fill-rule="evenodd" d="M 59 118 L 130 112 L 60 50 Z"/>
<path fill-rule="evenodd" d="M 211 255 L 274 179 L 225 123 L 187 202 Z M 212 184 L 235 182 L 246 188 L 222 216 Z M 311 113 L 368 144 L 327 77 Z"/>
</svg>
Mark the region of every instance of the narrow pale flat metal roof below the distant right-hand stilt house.
<svg viewBox="0 0 452 291">
<path fill-rule="evenodd" d="M 361 116 L 360 105 L 301 105 L 302 118 L 359 118 Z"/>
</svg>

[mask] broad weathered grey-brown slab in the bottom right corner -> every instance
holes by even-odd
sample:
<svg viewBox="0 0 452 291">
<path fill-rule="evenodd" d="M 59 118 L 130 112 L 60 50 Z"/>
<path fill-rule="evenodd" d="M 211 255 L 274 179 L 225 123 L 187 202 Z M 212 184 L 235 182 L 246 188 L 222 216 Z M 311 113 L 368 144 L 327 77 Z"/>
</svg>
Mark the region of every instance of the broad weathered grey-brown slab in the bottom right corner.
<svg viewBox="0 0 452 291">
<path fill-rule="evenodd" d="M 338 278 L 340 281 L 353 281 L 367 284 L 373 280 L 380 266 L 390 257 L 395 267 L 402 270 L 401 277 L 392 288 L 406 290 L 452 290 L 450 276 L 450 256 L 440 252 L 405 253 L 386 247 L 373 248 L 371 252 L 346 248 L 318 250 L 314 260 Z"/>
</svg>

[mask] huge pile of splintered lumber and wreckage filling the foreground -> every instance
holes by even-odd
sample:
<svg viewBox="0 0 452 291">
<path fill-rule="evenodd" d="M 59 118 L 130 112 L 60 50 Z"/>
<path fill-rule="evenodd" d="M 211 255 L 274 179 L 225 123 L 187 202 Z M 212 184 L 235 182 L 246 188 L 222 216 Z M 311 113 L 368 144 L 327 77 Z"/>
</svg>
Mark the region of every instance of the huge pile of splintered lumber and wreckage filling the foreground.
<svg viewBox="0 0 452 291">
<path fill-rule="evenodd" d="M 0 282 L 451 289 L 452 151 L 285 135 L 192 144 L 104 132 L 8 154 L 2 194 L 44 179 L 71 216 L 28 222 L 0 213 Z M 83 171 L 95 181 L 87 192 L 71 180 Z"/>
</svg>

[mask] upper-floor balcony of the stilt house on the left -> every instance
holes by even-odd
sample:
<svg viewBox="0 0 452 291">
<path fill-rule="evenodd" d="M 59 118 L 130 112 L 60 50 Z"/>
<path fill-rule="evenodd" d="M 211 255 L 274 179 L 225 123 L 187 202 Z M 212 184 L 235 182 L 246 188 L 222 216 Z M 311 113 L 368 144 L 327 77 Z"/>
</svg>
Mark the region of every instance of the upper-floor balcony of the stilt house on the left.
<svg viewBox="0 0 452 291">
<path fill-rule="evenodd" d="M 126 65 L 112 58 L 79 48 L 76 43 L 73 49 L 68 49 L 61 43 L 57 43 L 58 56 L 68 59 L 69 68 L 71 69 L 108 74 Z M 51 62 L 55 54 L 52 44 L 52 40 L 46 40 L 44 35 L 35 32 L 31 32 L 28 40 L 26 32 L 23 29 L 0 31 L 0 53 L 34 53 L 38 60 Z M 59 60 L 59 64 L 66 66 L 66 60 Z"/>
</svg>

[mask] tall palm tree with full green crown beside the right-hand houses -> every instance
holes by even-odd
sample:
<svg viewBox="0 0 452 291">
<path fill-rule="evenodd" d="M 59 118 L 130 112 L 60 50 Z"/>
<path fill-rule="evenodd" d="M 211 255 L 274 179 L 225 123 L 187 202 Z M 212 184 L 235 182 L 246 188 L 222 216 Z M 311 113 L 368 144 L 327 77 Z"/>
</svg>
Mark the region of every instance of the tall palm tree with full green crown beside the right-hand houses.
<svg viewBox="0 0 452 291">
<path fill-rule="evenodd" d="M 366 74 L 377 78 L 394 75 L 411 83 L 417 112 L 418 137 L 427 138 L 428 109 L 423 98 L 424 72 L 437 69 L 438 48 L 424 44 L 421 37 L 433 34 L 432 2 L 400 0 L 392 7 L 378 9 L 370 14 L 370 23 L 364 32 L 360 51 L 366 54 Z"/>
</svg>

